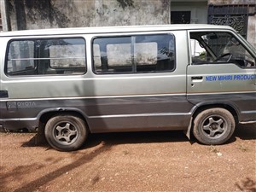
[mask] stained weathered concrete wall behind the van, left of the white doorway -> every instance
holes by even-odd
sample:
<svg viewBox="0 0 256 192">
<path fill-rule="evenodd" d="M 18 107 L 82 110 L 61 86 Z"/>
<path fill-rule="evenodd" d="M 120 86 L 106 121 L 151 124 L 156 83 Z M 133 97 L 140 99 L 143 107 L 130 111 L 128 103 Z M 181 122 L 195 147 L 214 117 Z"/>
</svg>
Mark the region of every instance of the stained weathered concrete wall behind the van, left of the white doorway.
<svg viewBox="0 0 256 192">
<path fill-rule="evenodd" d="M 11 30 L 170 23 L 169 0 L 9 0 Z"/>
</svg>

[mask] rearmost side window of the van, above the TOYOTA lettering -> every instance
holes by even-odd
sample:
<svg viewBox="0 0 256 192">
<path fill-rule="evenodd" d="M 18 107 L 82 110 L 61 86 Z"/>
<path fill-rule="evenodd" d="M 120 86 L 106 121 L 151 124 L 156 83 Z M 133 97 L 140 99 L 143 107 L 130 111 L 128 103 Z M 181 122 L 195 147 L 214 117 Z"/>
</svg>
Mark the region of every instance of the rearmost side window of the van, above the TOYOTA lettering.
<svg viewBox="0 0 256 192">
<path fill-rule="evenodd" d="M 9 76 L 83 74 L 84 38 L 12 40 L 5 70 Z"/>
</svg>

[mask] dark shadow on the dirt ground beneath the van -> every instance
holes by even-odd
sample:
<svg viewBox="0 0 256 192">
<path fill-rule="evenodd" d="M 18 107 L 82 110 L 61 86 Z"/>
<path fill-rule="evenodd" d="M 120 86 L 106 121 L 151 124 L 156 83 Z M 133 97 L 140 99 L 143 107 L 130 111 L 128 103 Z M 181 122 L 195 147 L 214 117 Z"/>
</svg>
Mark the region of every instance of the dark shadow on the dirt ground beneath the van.
<svg viewBox="0 0 256 192">
<path fill-rule="evenodd" d="M 256 139 L 256 124 L 237 125 L 236 131 L 228 143 L 236 142 L 236 137 L 241 140 Z M 108 145 L 129 144 L 129 143 L 173 143 L 190 142 L 196 143 L 195 137 L 189 140 L 183 131 L 147 131 L 147 132 L 120 132 L 120 133 L 97 133 L 90 134 L 81 149 L 93 148 L 101 143 Z M 37 134 L 22 147 L 41 146 L 49 148 L 44 136 Z"/>
</svg>

